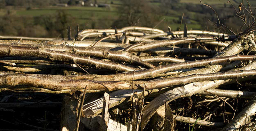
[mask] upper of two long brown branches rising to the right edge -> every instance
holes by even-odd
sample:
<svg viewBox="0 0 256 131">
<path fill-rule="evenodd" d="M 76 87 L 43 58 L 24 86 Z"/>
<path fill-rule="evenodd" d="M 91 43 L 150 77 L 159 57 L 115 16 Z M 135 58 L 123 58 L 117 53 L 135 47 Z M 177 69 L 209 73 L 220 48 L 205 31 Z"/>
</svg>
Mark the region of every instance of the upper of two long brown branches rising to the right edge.
<svg viewBox="0 0 256 131">
<path fill-rule="evenodd" d="M 198 60 L 198 61 L 188 61 L 183 63 L 173 63 L 170 65 L 157 66 L 155 68 L 151 68 L 148 70 L 140 70 L 140 71 L 127 72 L 122 74 L 113 74 L 113 75 L 108 75 L 105 78 L 102 78 L 102 77 L 94 78 L 94 80 L 112 80 L 112 81 L 132 80 L 132 79 L 139 80 L 144 78 L 152 78 L 157 74 L 170 72 L 173 70 L 179 70 L 184 68 L 194 68 L 194 67 L 213 65 L 213 64 L 238 61 L 238 60 L 252 60 L 252 59 L 256 59 L 256 56 L 235 55 L 235 56 L 228 56 L 228 57 L 210 58 L 210 59 L 204 59 L 204 60 Z"/>
</svg>

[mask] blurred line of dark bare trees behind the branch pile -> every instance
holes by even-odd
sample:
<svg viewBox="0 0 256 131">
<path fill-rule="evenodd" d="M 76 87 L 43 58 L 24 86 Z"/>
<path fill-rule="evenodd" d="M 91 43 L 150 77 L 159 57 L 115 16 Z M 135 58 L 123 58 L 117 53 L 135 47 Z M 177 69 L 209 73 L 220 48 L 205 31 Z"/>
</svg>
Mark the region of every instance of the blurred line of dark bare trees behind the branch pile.
<svg viewBox="0 0 256 131">
<path fill-rule="evenodd" d="M 71 0 L 72 1 L 72 0 Z M 74 1 L 74 0 L 73 0 Z M 94 29 L 103 28 L 122 28 L 125 26 L 144 26 L 155 27 L 167 31 L 167 27 L 172 30 L 178 30 L 177 25 L 182 23 L 197 24 L 197 29 L 215 29 L 212 26 L 216 23 L 216 14 L 206 6 L 201 4 L 180 3 L 180 0 L 120 0 L 116 10 L 119 16 L 114 20 L 105 16 L 99 18 L 94 16 L 94 20 L 86 27 Z M 0 0 L 1 7 L 6 6 L 24 6 L 24 7 L 43 7 L 52 6 L 56 3 L 68 3 L 70 0 Z M 93 1 L 92 1 L 93 2 Z M 235 10 L 230 4 L 212 6 L 221 18 L 221 23 L 227 25 L 230 29 L 238 29 L 241 24 L 234 15 Z M 111 7 L 112 8 L 112 7 Z M 12 13 L 14 12 L 14 13 Z M 182 18 L 184 13 L 184 18 Z M 167 17 L 176 17 L 168 19 Z M 177 18 L 178 17 L 178 18 Z M 164 19 L 166 18 L 166 19 Z M 66 10 L 58 10 L 55 14 L 42 16 L 18 16 L 13 10 L 7 10 L 6 14 L 0 16 L 0 35 L 20 35 L 30 37 L 67 37 L 67 26 L 76 28 L 79 18 L 75 18 Z M 108 22 L 103 21 L 106 19 Z M 84 26 L 88 20 L 80 22 Z M 176 24 L 175 27 L 173 25 Z M 14 26 L 15 25 L 15 26 Z M 82 28 L 81 27 L 81 28 Z M 188 27 L 188 29 L 191 29 Z M 194 29 L 192 27 L 192 29 Z M 228 32 L 227 32 L 228 33 Z"/>
</svg>

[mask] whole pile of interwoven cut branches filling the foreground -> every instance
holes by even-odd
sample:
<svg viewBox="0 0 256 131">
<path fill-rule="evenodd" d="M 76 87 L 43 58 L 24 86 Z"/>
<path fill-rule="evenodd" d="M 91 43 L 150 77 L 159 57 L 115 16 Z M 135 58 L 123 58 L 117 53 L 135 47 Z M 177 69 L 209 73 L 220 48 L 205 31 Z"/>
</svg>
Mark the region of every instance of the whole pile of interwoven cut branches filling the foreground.
<svg viewBox="0 0 256 131">
<path fill-rule="evenodd" d="M 254 130 L 255 41 L 252 31 L 148 27 L 85 29 L 73 41 L 1 40 L 0 109 L 52 108 L 60 102 L 33 97 L 58 94 L 62 130 Z M 34 96 L 13 104 L 8 93 Z M 25 125 L 52 130 L 42 119 Z"/>
</svg>

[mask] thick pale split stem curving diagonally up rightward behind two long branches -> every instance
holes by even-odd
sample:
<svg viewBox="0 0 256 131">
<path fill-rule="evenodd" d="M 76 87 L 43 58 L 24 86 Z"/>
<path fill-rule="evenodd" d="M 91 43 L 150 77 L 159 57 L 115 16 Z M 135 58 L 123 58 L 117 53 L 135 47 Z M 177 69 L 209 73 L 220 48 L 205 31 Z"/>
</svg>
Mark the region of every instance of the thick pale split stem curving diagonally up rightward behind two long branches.
<svg viewBox="0 0 256 131">
<path fill-rule="evenodd" d="M 235 55 L 246 49 L 254 50 L 256 48 L 256 44 L 254 43 L 254 40 L 255 39 L 254 39 L 253 33 L 241 35 L 236 40 L 234 40 L 230 45 L 228 45 L 228 47 L 226 47 L 222 51 L 222 53 L 216 55 L 215 57 Z M 241 41 L 243 42 L 246 41 L 247 43 L 244 45 L 241 45 Z M 212 65 L 212 66 L 208 66 L 207 68 L 204 68 L 204 70 L 202 70 L 203 72 L 199 72 L 199 73 L 205 73 L 211 70 L 213 72 L 218 72 L 221 68 L 222 68 L 222 65 Z M 145 106 L 145 108 L 142 111 L 142 124 L 141 124 L 142 129 L 146 126 L 146 124 L 148 123 L 152 115 L 154 115 L 154 113 L 156 113 L 156 111 L 158 111 L 158 109 L 164 105 L 164 101 L 169 103 L 172 100 L 176 100 L 181 97 L 192 96 L 193 94 L 224 84 L 225 81 L 230 81 L 230 80 L 193 82 L 185 86 L 174 88 L 173 90 L 170 90 L 154 98 L 154 100 L 152 100 L 147 106 Z"/>
</svg>

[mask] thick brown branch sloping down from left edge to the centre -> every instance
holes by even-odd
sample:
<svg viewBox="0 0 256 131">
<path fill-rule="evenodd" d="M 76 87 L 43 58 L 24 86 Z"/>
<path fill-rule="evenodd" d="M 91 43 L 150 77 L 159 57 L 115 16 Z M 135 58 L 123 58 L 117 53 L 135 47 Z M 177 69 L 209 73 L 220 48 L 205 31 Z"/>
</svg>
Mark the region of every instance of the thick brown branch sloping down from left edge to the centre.
<svg viewBox="0 0 256 131">
<path fill-rule="evenodd" d="M 6 46 L 0 45 L 0 55 L 2 56 L 24 56 L 24 57 L 39 57 L 49 59 L 51 61 L 61 61 L 68 63 L 77 63 L 81 65 L 95 66 L 98 68 L 105 68 L 110 70 L 116 70 L 121 72 L 138 70 L 136 68 L 116 64 L 112 62 L 100 61 L 90 57 L 84 57 L 65 53 L 62 51 L 52 51 L 48 49 L 36 48 L 36 47 L 20 47 L 20 46 Z"/>
</svg>

